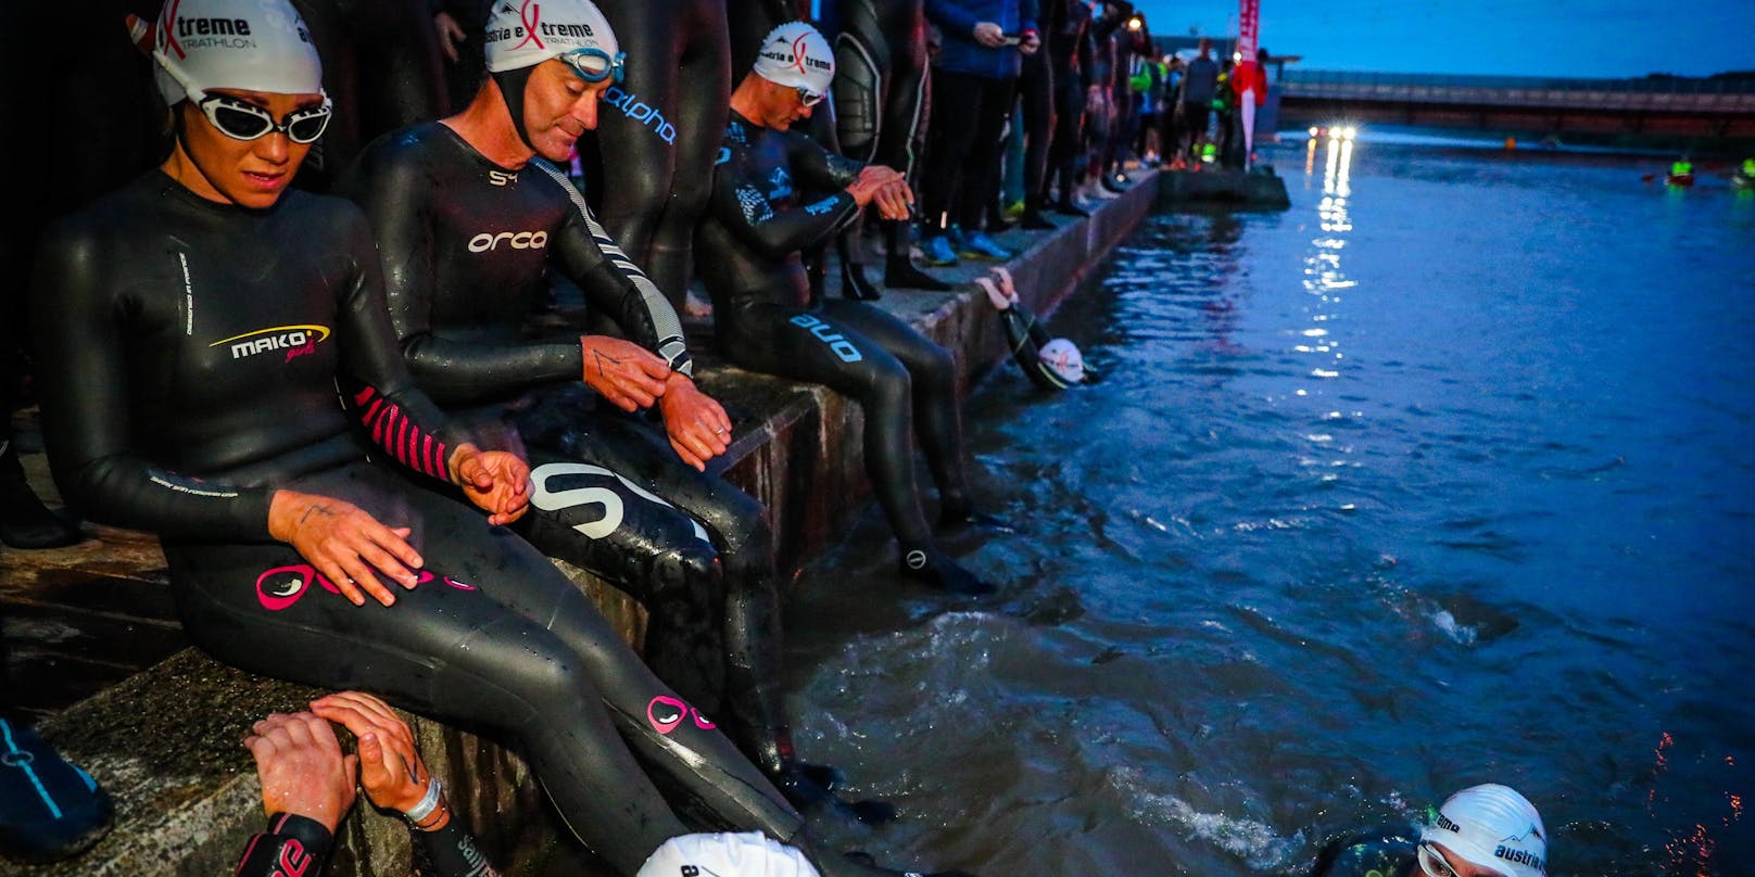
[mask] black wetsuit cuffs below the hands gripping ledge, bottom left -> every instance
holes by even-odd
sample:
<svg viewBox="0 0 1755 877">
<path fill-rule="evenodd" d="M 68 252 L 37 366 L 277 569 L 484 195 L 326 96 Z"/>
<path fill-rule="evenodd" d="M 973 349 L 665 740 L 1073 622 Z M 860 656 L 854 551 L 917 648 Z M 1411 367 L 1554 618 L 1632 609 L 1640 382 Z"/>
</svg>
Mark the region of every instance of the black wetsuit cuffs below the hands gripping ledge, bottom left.
<svg viewBox="0 0 1755 877">
<path fill-rule="evenodd" d="M 498 877 L 476 849 L 476 837 L 453 817 L 433 831 L 409 830 L 416 873 L 423 877 Z M 291 877 L 323 873 L 335 837 L 321 823 L 293 814 L 269 817 L 267 831 L 253 835 L 233 877 Z"/>
</svg>

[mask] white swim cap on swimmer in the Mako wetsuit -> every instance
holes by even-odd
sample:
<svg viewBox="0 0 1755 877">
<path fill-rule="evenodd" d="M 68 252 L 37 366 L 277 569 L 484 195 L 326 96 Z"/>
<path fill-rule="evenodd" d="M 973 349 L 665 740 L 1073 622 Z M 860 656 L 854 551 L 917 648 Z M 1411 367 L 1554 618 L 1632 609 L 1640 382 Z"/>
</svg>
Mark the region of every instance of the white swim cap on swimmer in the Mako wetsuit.
<svg viewBox="0 0 1755 877">
<path fill-rule="evenodd" d="M 286 0 L 165 0 L 154 30 L 153 58 L 165 103 L 209 88 L 323 91 L 318 47 Z"/>
</svg>

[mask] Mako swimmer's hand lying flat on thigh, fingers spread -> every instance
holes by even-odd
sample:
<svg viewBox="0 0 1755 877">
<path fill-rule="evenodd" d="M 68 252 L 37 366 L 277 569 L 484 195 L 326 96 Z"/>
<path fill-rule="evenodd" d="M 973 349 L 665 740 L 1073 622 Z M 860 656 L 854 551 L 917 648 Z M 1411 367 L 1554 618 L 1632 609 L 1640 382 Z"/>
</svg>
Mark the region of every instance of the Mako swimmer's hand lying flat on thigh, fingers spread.
<svg viewBox="0 0 1755 877">
<path fill-rule="evenodd" d="M 414 588 L 414 570 L 425 561 L 409 545 L 409 533 L 407 526 L 384 526 L 358 505 L 330 496 L 279 489 L 269 500 L 269 535 L 293 545 L 353 605 L 365 605 L 367 593 L 383 605 L 397 603 L 379 572 Z"/>
</svg>

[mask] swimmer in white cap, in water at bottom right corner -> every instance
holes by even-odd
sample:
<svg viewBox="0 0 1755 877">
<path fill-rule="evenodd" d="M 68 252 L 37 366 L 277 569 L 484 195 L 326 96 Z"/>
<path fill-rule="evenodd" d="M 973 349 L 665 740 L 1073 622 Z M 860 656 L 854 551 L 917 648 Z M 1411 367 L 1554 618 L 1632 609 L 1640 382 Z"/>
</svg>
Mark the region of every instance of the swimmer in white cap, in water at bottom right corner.
<svg viewBox="0 0 1755 877">
<path fill-rule="evenodd" d="M 1393 828 L 1330 844 L 1311 877 L 1546 877 L 1548 830 L 1509 786 L 1469 786 L 1427 817 L 1418 840 Z"/>
</svg>

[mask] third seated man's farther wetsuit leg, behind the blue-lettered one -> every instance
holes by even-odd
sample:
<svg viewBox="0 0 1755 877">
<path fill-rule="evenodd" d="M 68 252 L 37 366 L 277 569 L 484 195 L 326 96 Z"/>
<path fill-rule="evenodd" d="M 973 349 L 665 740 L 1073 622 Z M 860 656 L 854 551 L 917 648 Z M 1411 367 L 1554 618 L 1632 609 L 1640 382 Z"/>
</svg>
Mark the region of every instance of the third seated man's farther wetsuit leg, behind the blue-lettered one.
<svg viewBox="0 0 1755 877">
<path fill-rule="evenodd" d="M 907 367 L 913 388 L 914 426 L 927 468 L 939 486 L 942 517 L 967 516 L 974 507 L 969 474 L 963 467 L 963 421 L 956 405 L 956 360 L 914 326 L 888 310 L 830 302 L 823 314 L 842 326 L 878 342 Z"/>
</svg>

